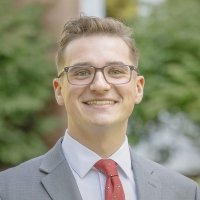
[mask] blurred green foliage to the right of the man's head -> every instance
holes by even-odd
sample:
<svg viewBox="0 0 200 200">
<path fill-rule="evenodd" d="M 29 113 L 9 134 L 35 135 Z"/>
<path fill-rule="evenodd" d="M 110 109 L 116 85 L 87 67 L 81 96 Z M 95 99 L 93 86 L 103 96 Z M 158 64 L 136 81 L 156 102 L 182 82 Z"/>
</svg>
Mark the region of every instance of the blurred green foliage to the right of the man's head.
<svg viewBox="0 0 200 200">
<path fill-rule="evenodd" d="M 135 133 L 161 111 L 183 112 L 200 124 L 200 2 L 168 0 L 134 24 L 144 99 L 130 121 Z"/>
</svg>

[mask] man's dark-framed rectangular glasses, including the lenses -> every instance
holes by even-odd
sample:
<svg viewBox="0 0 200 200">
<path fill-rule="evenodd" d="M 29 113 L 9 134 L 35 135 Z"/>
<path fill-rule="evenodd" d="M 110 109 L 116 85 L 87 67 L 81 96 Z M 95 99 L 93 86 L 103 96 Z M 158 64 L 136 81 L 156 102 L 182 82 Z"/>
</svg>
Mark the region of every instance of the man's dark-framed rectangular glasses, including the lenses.
<svg viewBox="0 0 200 200">
<path fill-rule="evenodd" d="M 128 83 L 131 80 L 132 71 L 139 74 L 138 68 L 133 65 L 110 65 L 102 68 L 96 68 L 93 66 L 70 66 L 65 67 L 58 74 L 58 78 L 66 72 L 70 84 L 88 85 L 93 82 L 97 71 L 103 73 L 104 79 L 107 83 L 115 85 Z"/>
</svg>

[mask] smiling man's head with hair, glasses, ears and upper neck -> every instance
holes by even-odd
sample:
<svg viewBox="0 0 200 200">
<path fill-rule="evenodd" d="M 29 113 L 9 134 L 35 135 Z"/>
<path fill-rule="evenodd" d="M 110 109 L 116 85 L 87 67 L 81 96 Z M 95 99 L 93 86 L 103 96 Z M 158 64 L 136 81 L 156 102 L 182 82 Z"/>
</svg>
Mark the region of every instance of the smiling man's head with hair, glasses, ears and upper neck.
<svg viewBox="0 0 200 200">
<path fill-rule="evenodd" d="M 120 143 L 134 105 L 142 100 L 144 78 L 137 72 L 130 33 L 110 18 L 81 17 L 64 27 L 54 91 L 67 111 L 68 131 L 81 143 L 97 133 L 115 134 Z"/>
</svg>

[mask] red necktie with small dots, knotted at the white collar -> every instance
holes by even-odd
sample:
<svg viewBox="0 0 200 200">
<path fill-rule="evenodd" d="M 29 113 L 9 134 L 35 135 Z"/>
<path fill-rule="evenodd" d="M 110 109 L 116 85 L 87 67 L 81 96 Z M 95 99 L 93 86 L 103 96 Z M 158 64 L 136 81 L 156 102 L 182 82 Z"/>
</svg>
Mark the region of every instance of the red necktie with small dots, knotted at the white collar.
<svg viewBox="0 0 200 200">
<path fill-rule="evenodd" d="M 105 200 L 125 200 L 117 163 L 111 159 L 101 159 L 94 166 L 106 176 Z"/>
</svg>

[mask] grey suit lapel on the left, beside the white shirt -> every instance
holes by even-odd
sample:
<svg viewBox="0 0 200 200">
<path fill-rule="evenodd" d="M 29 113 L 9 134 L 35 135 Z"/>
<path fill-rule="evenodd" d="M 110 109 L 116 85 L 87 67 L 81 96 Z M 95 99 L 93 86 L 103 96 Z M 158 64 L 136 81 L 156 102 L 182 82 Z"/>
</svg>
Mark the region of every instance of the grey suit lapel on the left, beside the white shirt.
<svg viewBox="0 0 200 200">
<path fill-rule="evenodd" d="M 53 200 L 82 200 L 71 169 L 64 158 L 61 140 L 45 155 L 40 170 L 46 174 L 41 183 Z"/>
</svg>

